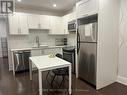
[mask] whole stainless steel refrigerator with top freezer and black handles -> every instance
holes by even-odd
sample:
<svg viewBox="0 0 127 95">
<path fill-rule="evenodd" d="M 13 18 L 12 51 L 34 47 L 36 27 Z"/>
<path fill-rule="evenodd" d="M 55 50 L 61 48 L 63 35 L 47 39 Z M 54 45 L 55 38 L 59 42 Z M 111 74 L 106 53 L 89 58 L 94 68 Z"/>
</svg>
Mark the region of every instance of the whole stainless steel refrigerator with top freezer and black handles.
<svg viewBox="0 0 127 95">
<path fill-rule="evenodd" d="M 77 31 L 79 78 L 96 86 L 97 33 L 96 20 L 79 20 Z"/>
</svg>

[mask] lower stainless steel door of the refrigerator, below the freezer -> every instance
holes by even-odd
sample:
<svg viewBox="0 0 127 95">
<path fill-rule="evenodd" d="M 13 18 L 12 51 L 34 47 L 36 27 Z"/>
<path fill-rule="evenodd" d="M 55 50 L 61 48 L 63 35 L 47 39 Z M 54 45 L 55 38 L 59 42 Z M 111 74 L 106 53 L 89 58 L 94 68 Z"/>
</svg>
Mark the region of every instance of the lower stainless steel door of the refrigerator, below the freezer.
<svg viewBox="0 0 127 95">
<path fill-rule="evenodd" d="M 96 43 L 80 43 L 78 55 L 79 77 L 93 85 L 96 85 L 96 47 Z"/>
</svg>

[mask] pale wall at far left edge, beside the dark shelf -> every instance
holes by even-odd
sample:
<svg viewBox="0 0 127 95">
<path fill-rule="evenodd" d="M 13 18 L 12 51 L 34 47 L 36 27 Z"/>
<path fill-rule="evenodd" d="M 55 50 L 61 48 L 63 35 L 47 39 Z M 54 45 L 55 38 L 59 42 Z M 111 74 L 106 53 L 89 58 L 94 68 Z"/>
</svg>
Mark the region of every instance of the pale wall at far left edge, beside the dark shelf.
<svg viewBox="0 0 127 95">
<path fill-rule="evenodd" d="M 0 17 L 0 57 L 2 57 L 1 37 L 6 37 L 6 23 L 4 17 Z"/>
</svg>

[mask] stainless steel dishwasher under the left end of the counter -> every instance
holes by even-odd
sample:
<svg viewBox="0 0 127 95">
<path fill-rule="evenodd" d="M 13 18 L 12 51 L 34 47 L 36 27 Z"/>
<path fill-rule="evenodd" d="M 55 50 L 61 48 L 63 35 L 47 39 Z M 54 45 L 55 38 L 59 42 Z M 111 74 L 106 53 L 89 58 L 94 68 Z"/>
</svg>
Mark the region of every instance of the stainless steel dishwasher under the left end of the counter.
<svg viewBox="0 0 127 95">
<path fill-rule="evenodd" d="M 30 51 L 16 51 L 14 52 L 14 68 L 15 72 L 29 70 Z"/>
</svg>

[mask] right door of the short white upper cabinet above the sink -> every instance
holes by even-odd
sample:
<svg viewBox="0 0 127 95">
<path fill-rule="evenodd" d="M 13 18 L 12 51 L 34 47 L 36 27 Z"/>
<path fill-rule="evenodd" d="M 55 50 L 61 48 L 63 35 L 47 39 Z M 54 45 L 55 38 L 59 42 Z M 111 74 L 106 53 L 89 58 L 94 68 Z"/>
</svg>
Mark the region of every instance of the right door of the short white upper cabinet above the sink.
<svg viewBox="0 0 127 95">
<path fill-rule="evenodd" d="M 40 28 L 50 29 L 50 16 L 47 16 L 47 15 L 40 16 Z"/>
</svg>

